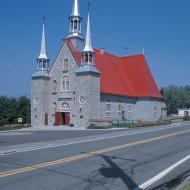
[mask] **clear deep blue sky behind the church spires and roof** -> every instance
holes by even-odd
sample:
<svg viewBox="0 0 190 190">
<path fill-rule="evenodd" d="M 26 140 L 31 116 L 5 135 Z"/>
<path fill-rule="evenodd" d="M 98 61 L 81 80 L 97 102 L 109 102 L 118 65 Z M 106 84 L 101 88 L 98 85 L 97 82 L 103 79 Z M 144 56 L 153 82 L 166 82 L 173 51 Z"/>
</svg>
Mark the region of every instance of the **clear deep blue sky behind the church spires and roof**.
<svg viewBox="0 0 190 190">
<path fill-rule="evenodd" d="M 88 0 L 79 0 L 86 29 Z M 189 0 L 90 0 L 94 47 L 118 55 L 142 53 L 159 87 L 190 84 Z M 68 32 L 73 0 L 1 0 L 0 95 L 30 97 L 46 17 L 53 63 Z"/>
</svg>

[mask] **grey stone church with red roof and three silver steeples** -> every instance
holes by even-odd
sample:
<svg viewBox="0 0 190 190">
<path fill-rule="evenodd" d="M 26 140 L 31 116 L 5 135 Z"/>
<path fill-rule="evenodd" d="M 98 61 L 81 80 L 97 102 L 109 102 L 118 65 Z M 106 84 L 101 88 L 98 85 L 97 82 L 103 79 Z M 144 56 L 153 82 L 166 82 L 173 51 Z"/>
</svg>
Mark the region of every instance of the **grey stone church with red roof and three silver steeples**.
<svg viewBox="0 0 190 190">
<path fill-rule="evenodd" d="M 43 23 L 41 51 L 32 75 L 32 126 L 87 128 L 92 123 L 152 122 L 166 105 L 143 54 L 119 57 L 93 47 L 90 15 L 82 32 L 78 0 L 69 32 L 50 67 Z"/>
</svg>

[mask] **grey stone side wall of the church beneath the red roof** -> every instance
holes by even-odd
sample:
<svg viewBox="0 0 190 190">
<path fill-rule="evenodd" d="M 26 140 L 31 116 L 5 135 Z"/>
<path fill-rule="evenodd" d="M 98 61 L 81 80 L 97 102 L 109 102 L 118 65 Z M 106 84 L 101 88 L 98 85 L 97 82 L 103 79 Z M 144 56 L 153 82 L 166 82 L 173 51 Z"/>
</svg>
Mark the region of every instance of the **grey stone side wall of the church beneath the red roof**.
<svg viewBox="0 0 190 190">
<path fill-rule="evenodd" d="M 134 98 L 127 96 L 115 96 L 101 94 L 100 114 L 101 119 L 106 118 L 106 101 L 111 102 L 112 120 L 125 120 L 126 122 L 139 121 L 157 121 L 162 118 L 162 108 L 165 104 L 162 100 L 156 98 Z M 121 102 L 123 107 L 123 116 L 118 117 L 118 106 Z"/>
</svg>

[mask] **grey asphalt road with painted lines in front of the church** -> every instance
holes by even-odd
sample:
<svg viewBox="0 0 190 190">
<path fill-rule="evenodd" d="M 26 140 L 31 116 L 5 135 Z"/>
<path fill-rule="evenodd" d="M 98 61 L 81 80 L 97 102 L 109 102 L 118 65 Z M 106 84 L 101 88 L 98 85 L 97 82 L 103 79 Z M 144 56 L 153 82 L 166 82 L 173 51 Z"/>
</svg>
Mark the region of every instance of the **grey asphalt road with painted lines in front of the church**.
<svg viewBox="0 0 190 190">
<path fill-rule="evenodd" d="M 0 151 L 19 142 L 18 152 L 0 155 L 0 190 L 170 189 L 190 174 L 190 125 L 67 131 L 67 143 L 49 148 L 43 143 L 55 140 L 56 132 L 40 133 L 48 133 L 41 148 L 23 152 L 36 133 L 0 134 Z"/>
</svg>

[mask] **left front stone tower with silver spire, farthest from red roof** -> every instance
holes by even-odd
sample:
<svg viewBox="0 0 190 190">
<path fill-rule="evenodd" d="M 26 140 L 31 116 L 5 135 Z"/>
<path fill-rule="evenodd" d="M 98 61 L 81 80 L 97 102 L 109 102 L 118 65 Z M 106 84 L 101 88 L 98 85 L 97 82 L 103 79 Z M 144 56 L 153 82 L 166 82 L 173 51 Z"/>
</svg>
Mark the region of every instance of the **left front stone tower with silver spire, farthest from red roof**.
<svg viewBox="0 0 190 190">
<path fill-rule="evenodd" d="M 49 58 L 46 53 L 45 19 L 43 18 L 40 55 L 37 58 L 37 69 L 32 75 L 31 124 L 48 125 L 49 117 Z"/>
</svg>

